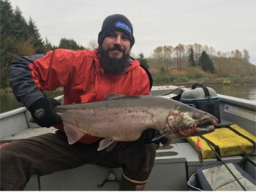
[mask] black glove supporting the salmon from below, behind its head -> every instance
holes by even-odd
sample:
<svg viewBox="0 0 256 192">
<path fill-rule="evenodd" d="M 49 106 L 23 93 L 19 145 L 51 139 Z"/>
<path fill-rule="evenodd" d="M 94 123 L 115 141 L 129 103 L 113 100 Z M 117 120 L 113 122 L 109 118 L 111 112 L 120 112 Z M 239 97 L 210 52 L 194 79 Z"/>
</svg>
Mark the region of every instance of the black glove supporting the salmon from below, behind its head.
<svg viewBox="0 0 256 192">
<path fill-rule="evenodd" d="M 148 128 L 146 131 L 143 132 L 143 134 L 141 134 L 140 141 L 142 141 L 143 143 L 153 143 L 152 139 L 154 139 L 154 137 L 157 137 L 159 135 L 160 134 L 156 129 Z M 168 141 L 167 137 L 162 137 L 154 141 L 154 143 L 159 144 L 161 142 L 162 144 L 166 144 L 167 141 Z"/>
</svg>

